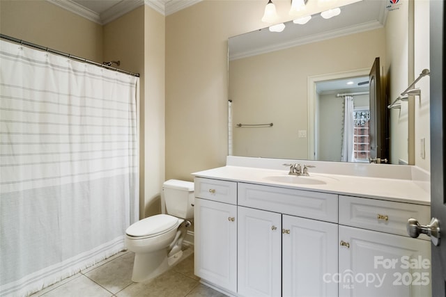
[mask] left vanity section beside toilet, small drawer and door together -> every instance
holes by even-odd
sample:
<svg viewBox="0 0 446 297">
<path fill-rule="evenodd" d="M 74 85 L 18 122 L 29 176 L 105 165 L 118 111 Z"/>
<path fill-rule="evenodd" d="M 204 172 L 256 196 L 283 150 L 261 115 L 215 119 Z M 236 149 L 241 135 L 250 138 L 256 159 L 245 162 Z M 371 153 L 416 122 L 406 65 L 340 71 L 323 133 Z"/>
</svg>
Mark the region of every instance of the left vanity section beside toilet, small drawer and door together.
<svg viewBox="0 0 446 297">
<path fill-rule="evenodd" d="M 195 197 L 194 273 L 234 293 L 237 291 L 237 183 L 196 178 Z"/>
</svg>

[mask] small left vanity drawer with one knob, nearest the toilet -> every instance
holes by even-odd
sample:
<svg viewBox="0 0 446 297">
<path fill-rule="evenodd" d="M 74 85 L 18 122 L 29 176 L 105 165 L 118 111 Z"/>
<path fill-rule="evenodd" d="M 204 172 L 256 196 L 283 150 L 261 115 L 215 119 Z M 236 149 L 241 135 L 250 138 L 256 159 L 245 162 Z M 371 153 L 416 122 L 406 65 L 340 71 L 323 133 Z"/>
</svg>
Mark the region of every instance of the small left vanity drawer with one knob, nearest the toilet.
<svg viewBox="0 0 446 297">
<path fill-rule="evenodd" d="M 219 179 L 195 177 L 195 197 L 237 204 L 237 183 Z"/>
</svg>

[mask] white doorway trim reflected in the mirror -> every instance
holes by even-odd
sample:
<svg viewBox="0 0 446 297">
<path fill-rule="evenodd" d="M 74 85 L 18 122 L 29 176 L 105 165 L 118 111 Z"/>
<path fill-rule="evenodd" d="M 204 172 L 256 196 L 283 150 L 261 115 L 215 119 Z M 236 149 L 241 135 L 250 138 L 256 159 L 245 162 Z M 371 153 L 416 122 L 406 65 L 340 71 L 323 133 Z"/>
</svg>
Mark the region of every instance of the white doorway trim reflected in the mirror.
<svg viewBox="0 0 446 297">
<path fill-rule="evenodd" d="M 307 77 L 307 93 L 308 93 L 308 160 L 314 160 L 314 119 L 316 118 L 316 83 L 319 81 L 330 81 L 333 79 L 344 79 L 347 77 L 364 77 L 369 75 L 369 68 L 351 70 L 345 72 L 334 72 L 328 74 L 315 75 Z"/>
</svg>

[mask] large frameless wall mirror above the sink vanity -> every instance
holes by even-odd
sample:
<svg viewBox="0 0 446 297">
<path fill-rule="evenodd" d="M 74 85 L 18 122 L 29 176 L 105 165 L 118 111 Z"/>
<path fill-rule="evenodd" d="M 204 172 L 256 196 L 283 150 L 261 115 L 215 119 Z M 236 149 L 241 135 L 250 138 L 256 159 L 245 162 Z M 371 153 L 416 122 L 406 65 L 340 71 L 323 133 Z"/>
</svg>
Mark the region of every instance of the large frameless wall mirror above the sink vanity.
<svg viewBox="0 0 446 297">
<path fill-rule="evenodd" d="M 229 38 L 229 154 L 368 161 L 360 143 L 370 140 L 360 135 L 352 136 L 355 157 L 344 153 L 346 109 L 367 129 L 369 73 L 377 57 L 385 96 L 409 81 L 409 1 L 392 10 L 388 3 L 362 0 L 331 19 L 316 14 L 307 24 L 285 23 L 281 33 L 265 28 Z M 410 116 L 407 106 L 399 107 L 389 110 L 397 119 L 390 122 L 397 131 L 390 159 L 408 163 Z"/>
</svg>

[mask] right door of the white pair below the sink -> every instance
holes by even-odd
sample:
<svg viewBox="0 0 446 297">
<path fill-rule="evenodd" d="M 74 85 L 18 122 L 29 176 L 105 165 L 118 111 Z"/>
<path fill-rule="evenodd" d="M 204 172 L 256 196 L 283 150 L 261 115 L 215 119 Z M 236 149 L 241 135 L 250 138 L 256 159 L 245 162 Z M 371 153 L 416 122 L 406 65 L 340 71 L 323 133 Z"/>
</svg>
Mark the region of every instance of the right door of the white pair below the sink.
<svg viewBox="0 0 446 297">
<path fill-rule="evenodd" d="M 324 281 L 337 273 L 337 224 L 284 215 L 282 228 L 283 296 L 337 296 Z"/>
</svg>

